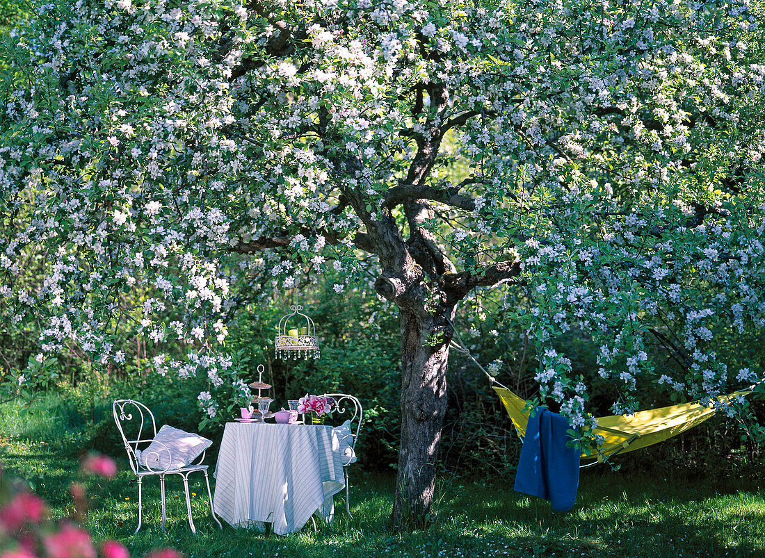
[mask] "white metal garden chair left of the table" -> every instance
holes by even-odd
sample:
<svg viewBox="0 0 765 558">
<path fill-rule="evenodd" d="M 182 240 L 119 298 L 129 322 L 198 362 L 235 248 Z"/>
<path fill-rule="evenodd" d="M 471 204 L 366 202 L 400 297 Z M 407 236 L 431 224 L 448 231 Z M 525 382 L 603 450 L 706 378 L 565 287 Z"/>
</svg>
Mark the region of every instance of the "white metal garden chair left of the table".
<svg viewBox="0 0 765 558">
<path fill-rule="evenodd" d="M 186 509 L 189 515 L 189 526 L 191 527 L 191 532 L 196 533 L 197 528 L 194 527 L 194 520 L 191 519 L 191 500 L 189 497 L 188 476 L 191 473 L 197 471 L 204 473 L 204 482 L 207 483 L 207 498 L 209 498 L 208 501 L 210 502 L 210 513 L 213 515 L 213 519 L 218 524 L 218 527 L 223 529 L 223 525 L 220 524 L 220 521 L 218 521 L 218 518 L 215 517 L 215 512 L 213 511 L 213 496 L 210 493 L 210 479 L 207 477 L 207 465 L 201 464 L 204 460 L 204 454 L 206 452 L 202 453 L 196 463 L 180 467 L 174 466 L 171 448 L 161 441 L 154 440 L 154 438 L 157 436 L 157 424 L 154 420 L 154 414 L 151 413 L 151 410 L 149 410 L 148 407 L 142 403 L 139 403 L 138 401 L 133 401 L 132 399 L 119 399 L 112 403 L 112 414 L 114 415 L 114 422 L 116 423 L 117 429 L 119 430 L 119 435 L 122 436 L 122 443 L 125 444 L 125 450 L 128 452 L 130 468 L 138 477 L 138 527 L 135 528 L 135 533 L 138 533 L 138 530 L 141 529 L 142 482 L 144 477 L 149 475 L 159 476 L 163 531 L 164 524 L 167 519 L 164 503 L 164 477 L 165 475 L 181 475 L 181 478 L 184 479 L 184 491 L 186 492 Z M 149 419 L 151 419 L 151 430 L 149 430 L 148 426 Z M 135 422 L 131 423 L 130 421 Z M 129 427 L 130 436 L 125 435 L 125 427 Z M 151 437 L 142 437 L 144 433 L 144 427 L 146 427 L 147 435 L 151 435 Z M 137 433 L 135 433 L 136 428 Z M 133 433 L 135 433 L 135 438 Z M 145 453 L 148 446 L 152 443 L 157 444 L 160 447 L 159 451 L 152 450 L 149 452 L 149 455 L 145 459 L 141 459 L 141 448 L 144 449 Z M 165 452 L 167 453 L 166 457 Z M 162 454 L 163 459 L 167 460 L 168 465 L 164 466 L 164 468 L 161 466 L 156 466 L 153 468 L 151 463 L 160 462 L 160 453 Z"/>
</svg>

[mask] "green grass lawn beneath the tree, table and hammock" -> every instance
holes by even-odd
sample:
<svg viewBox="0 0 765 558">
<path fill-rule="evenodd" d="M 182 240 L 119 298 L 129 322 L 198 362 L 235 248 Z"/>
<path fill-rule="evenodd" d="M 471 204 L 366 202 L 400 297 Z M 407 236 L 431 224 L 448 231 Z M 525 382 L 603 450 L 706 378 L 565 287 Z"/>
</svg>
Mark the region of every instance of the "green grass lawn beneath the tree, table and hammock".
<svg viewBox="0 0 765 558">
<path fill-rule="evenodd" d="M 6 467 L 44 496 L 56 517 L 73 513 L 67 493 L 77 459 L 49 443 L 4 436 Z M 212 463 L 211 463 L 212 465 Z M 187 556 L 765 556 L 765 493 L 754 483 L 720 485 L 696 479 L 648 479 L 610 469 L 583 472 L 575 508 L 567 514 L 527 498 L 502 479 L 443 481 L 435 522 L 425 532 L 392 535 L 386 519 L 392 475 L 351 471 L 350 519 L 318 521 L 279 537 L 218 530 L 210 520 L 202 477 L 192 490 L 194 536 L 186 520 L 180 480 L 168 481 L 168 529 L 159 529 L 159 488 L 145 483 L 145 523 L 133 536 L 137 488 L 126 461 L 116 479 L 86 479 L 92 504 L 87 527 L 96 540 L 116 538 L 135 556 L 171 546 Z M 80 477 L 81 478 L 81 477 Z"/>
</svg>

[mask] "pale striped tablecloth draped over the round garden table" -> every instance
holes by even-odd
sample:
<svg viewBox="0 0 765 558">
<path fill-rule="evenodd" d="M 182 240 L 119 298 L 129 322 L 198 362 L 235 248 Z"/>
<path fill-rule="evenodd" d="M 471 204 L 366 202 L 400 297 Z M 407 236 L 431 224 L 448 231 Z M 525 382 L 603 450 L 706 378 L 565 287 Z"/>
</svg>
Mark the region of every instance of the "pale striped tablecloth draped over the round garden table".
<svg viewBox="0 0 765 558">
<path fill-rule="evenodd" d="M 345 488 L 340 444 L 332 427 L 226 423 L 215 468 L 213 509 L 233 527 L 273 524 L 293 533 Z M 325 504 L 326 501 L 326 504 Z"/>
</svg>

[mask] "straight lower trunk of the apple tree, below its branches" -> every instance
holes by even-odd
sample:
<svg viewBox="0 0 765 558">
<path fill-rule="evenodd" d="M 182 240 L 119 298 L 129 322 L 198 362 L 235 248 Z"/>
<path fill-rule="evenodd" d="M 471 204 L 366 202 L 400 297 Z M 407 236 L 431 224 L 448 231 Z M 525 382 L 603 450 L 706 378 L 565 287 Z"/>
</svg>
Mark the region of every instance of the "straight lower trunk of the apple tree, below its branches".
<svg viewBox="0 0 765 558">
<path fill-rule="evenodd" d="M 446 366 L 454 309 L 441 315 L 415 313 L 399 307 L 401 316 L 401 448 L 396 477 L 396 498 L 391 525 L 394 530 L 425 527 L 435 491 L 435 473 L 446 414 Z M 435 345 L 435 336 L 441 334 Z"/>
</svg>

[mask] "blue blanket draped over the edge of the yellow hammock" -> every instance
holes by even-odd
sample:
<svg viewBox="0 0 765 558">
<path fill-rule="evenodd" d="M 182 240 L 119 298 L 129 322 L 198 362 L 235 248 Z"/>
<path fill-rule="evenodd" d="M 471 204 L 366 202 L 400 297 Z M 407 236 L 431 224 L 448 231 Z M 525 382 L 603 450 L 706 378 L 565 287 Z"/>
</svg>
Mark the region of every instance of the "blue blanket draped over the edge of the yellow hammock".
<svg viewBox="0 0 765 558">
<path fill-rule="evenodd" d="M 556 511 L 574 507 L 579 486 L 577 447 L 567 448 L 571 428 L 565 417 L 535 407 L 526 426 L 516 472 L 518 492 L 545 498 Z"/>
</svg>

